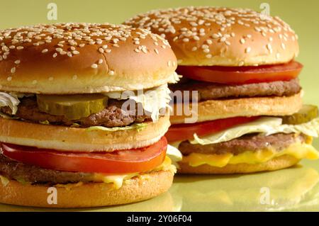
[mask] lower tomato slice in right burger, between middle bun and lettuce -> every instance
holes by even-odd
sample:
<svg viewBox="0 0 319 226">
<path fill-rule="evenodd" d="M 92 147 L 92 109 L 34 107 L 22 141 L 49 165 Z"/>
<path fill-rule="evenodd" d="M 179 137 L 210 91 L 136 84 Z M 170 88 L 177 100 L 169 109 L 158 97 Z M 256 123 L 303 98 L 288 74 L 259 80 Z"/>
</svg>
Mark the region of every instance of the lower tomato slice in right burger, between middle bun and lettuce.
<svg viewBox="0 0 319 226">
<path fill-rule="evenodd" d="M 198 136 L 205 136 L 227 130 L 235 125 L 243 123 L 250 123 L 253 120 L 257 120 L 259 116 L 255 117 L 234 117 L 223 118 L 218 120 L 212 120 L 203 123 L 189 123 L 189 124 L 177 124 L 172 125 L 168 132 L 165 134 L 169 142 L 175 142 L 180 140 L 189 140 L 194 137 L 194 133 Z"/>
</svg>

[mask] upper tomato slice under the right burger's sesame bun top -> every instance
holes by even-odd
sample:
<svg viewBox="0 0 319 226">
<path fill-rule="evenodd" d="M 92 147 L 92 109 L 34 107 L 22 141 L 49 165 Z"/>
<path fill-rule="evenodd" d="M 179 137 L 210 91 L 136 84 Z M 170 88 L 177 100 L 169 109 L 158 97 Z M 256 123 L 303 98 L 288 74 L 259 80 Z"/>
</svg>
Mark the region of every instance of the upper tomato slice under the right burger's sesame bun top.
<svg viewBox="0 0 319 226">
<path fill-rule="evenodd" d="M 257 67 L 179 66 L 177 73 L 189 79 L 220 84 L 251 84 L 269 81 L 289 81 L 300 74 L 303 64 L 291 61 L 287 64 Z"/>
</svg>

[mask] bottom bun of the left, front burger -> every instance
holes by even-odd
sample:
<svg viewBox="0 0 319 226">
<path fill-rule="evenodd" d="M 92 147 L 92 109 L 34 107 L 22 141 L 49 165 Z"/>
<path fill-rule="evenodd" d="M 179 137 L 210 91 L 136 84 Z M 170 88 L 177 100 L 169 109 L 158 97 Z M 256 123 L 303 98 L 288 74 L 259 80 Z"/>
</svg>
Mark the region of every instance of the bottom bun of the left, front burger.
<svg viewBox="0 0 319 226">
<path fill-rule="evenodd" d="M 84 183 L 72 188 L 55 187 L 57 204 L 51 205 L 47 201 L 52 200 L 50 186 L 23 185 L 11 180 L 6 186 L 0 183 L 0 203 L 47 208 L 85 208 L 135 203 L 167 191 L 172 186 L 173 176 L 171 171 L 152 172 L 125 181 L 119 189 L 113 188 L 111 183 Z"/>
</svg>

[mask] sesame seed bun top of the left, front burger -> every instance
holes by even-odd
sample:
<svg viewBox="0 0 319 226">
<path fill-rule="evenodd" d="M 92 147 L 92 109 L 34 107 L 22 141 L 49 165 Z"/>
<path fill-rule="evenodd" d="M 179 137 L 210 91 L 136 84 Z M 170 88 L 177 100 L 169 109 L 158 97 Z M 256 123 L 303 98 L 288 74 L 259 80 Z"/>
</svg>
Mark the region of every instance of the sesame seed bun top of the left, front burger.
<svg viewBox="0 0 319 226">
<path fill-rule="evenodd" d="M 169 43 L 141 28 L 59 23 L 0 30 L 0 90 L 86 94 L 172 80 Z"/>
</svg>

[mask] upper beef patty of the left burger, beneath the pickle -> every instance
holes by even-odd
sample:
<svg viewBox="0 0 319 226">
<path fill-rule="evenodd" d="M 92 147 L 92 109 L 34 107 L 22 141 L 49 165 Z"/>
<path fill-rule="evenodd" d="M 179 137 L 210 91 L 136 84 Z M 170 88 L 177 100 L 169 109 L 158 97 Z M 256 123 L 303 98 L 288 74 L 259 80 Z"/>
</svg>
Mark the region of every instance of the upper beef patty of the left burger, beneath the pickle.
<svg viewBox="0 0 319 226">
<path fill-rule="evenodd" d="M 109 99 L 108 106 L 104 108 L 103 111 L 91 114 L 88 117 L 81 118 L 79 120 L 69 120 L 64 115 L 50 115 L 48 113 L 41 112 L 38 108 L 38 103 L 35 97 L 22 98 L 20 101 L 21 103 L 18 105 L 18 111 L 14 116 L 33 123 L 39 123 L 47 120 L 55 125 L 69 126 L 73 123 L 78 123 L 83 127 L 101 125 L 112 128 L 116 126 L 130 125 L 132 123 L 142 123 L 145 120 L 150 120 L 150 114 L 144 113 L 144 115 L 138 115 L 135 113 L 135 110 L 124 111 L 121 109 L 125 100 L 118 101 L 115 99 Z M 8 106 L 1 107 L 0 111 L 7 115 L 12 115 L 11 108 Z"/>
</svg>

